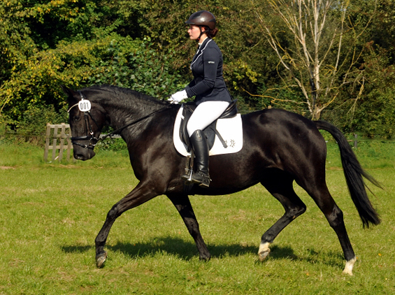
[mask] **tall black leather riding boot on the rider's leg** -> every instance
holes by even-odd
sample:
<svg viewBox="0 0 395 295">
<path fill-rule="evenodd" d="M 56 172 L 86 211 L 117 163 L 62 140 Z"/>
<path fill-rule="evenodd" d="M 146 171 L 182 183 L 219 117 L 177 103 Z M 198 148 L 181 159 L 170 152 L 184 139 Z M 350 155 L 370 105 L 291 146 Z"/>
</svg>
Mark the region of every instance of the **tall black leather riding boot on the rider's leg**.
<svg viewBox="0 0 395 295">
<path fill-rule="evenodd" d="M 196 130 L 189 138 L 195 152 L 196 172 L 192 174 L 192 182 L 199 184 L 201 187 L 210 185 L 210 176 L 208 175 L 208 143 L 203 131 Z"/>
</svg>

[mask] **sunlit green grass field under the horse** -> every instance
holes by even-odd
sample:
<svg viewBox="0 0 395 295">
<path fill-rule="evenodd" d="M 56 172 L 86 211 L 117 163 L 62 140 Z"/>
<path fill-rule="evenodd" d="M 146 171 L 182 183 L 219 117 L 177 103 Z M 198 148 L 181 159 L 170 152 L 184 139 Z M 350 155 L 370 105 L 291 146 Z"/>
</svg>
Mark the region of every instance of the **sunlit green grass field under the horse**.
<svg viewBox="0 0 395 295">
<path fill-rule="evenodd" d="M 199 261 L 177 211 L 158 196 L 117 219 L 108 261 L 98 269 L 94 238 L 137 183 L 127 152 L 48 164 L 38 147 L 0 144 L 0 294 L 395 294 L 395 146 L 366 144 L 356 152 L 385 189 L 371 186 L 382 224 L 363 229 L 329 143 L 326 180 L 358 257 L 351 277 L 342 273 L 335 233 L 299 187 L 307 212 L 259 262 L 260 237 L 283 210 L 258 185 L 191 197 L 210 261 Z"/>
</svg>

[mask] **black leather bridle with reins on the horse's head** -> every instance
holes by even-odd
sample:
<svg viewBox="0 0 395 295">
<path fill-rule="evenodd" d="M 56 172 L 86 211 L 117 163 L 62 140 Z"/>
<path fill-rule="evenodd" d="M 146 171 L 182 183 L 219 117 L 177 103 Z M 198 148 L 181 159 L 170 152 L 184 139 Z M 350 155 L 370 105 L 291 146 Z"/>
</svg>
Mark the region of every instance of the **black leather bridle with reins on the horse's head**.
<svg viewBox="0 0 395 295">
<path fill-rule="evenodd" d="M 82 94 L 82 92 L 78 91 L 78 93 L 80 94 L 81 99 L 85 99 L 85 97 Z M 69 108 L 69 110 L 67 112 L 69 113 L 70 110 L 72 108 L 74 108 L 75 106 L 78 106 L 78 103 L 76 103 L 74 106 L 71 106 L 71 108 Z M 94 124 L 96 124 L 96 126 L 98 126 L 98 125 L 97 125 L 96 121 L 94 120 L 94 118 L 92 117 L 90 111 L 82 112 L 82 113 L 84 113 L 85 130 L 87 131 L 87 135 L 86 136 L 71 137 L 70 138 L 71 139 L 71 143 L 73 143 L 73 145 L 79 145 L 80 147 L 93 150 L 94 147 L 97 145 L 97 143 L 99 143 L 99 141 L 103 141 L 104 139 L 106 139 L 108 137 L 111 138 L 111 136 L 113 136 L 114 134 L 118 134 L 123 129 L 125 129 L 125 128 L 133 125 L 133 124 L 136 124 L 138 122 L 141 122 L 141 121 L 147 119 L 148 117 L 151 117 L 152 115 L 155 115 L 156 113 L 160 113 L 160 112 L 162 112 L 164 110 L 169 110 L 169 109 L 170 109 L 170 107 L 165 107 L 165 108 L 160 108 L 159 110 L 155 110 L 154 112 L 152 112 L 152 113 L 150 113 L 148 115 L 145 115 L 144 117 L 141 117 L 140 119 L 135 120 L 135 121 L 133 121 L 131 123 L 128 123 L 128 124 L 124 125 L 124 127 L 118 128 L 118 129 L 116 129 L 116 130 L 114 130 L 114 131 L 112 131 L 112 132 L 110 132 L 110 133 L 108 133 L 108 134 L 106 134 L 104 136 L 101 136 L 99 138 L 94 137 L 94 132 L 92 131 L 92 126 L 91 126 L 91 124 L 89 122 L 89 117 L 92 119 Z M 87 140 L 89 140 L 89 144 L 88 145 L 83 145 L 81 143 L 76 142 L 76 141 L 87 141 Z"/>
</svg>

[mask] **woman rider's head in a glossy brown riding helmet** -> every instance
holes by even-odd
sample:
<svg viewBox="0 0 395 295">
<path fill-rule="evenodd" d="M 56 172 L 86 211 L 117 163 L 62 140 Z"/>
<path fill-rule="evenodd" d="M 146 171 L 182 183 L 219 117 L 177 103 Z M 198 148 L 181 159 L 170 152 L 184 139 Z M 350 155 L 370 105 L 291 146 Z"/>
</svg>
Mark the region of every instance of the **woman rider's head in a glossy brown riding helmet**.
<svg viewBox="0 0 395 295">
<path fill-rule="evenodd" d="M 213 13 L 210 13 L 207 10 L 200 10 L 196 13 L 192 13 L 189 19 L 185 22 L 185 24 L 189 24 L 189 30 L 192 30 L 194 26 L 199 27 L 200 34 L 197 38 L 191 34 L 192 31 L 189 32 L 189 36 L 197 41 L 199 41 L 203 34 L 206 34 L 206 36 L 210 38 L 215 37 L 218 31 L 215 27 L 216 23 L 217 21 L 215 20 Z"/>
</svg>

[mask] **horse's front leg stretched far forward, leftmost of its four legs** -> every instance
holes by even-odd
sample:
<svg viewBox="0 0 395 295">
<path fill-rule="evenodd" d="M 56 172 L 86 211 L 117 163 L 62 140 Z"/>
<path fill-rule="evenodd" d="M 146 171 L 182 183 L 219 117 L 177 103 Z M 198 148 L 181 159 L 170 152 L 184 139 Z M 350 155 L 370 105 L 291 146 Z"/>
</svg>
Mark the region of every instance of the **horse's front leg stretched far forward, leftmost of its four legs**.
<svg viewBox="0 0 395 295">
<path fill-rule="evenodd" d="M 96 236 L 96 265 L 98 267 L 103 266 L 104 261 L 106 261 L 107 253 L 104 251 L 104 245 L 106 245 L 106 240 L 108 233 L 110 233 L 111 226 L 113 226 L 117 217 L 120 217 L 125 211 L 140 206 L 142 203 L 149 201 L 159 194 L 152 189 L 153 185 L 145 184 L 140 182 L 137 187 L 135 187 L 129 194 L 124 196 L 119 202 L 117 202 L 113 208 L 107 213 L 106 222 L 104 222 L 103 227 Z"/>
</svg>

